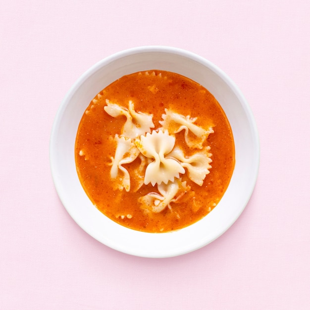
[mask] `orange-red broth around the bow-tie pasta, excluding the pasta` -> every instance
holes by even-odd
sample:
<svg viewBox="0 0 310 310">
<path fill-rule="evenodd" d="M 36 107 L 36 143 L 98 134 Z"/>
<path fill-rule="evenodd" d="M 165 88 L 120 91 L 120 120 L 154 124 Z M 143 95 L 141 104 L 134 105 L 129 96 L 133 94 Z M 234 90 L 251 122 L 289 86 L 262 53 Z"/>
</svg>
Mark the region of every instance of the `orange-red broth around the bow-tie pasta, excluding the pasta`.
<svg viewBox="0 0 310 310">
<path fill-rule="evenodd" d="M 157 192 L 150 184 L 139 190 L 126 192 L 114 189 L 110 178 L 111 157 L 116 143 L 112 139 L 120 134 L 125 116 L 112 117 L 104 106 L 106 100 L 128 108 L 131 100 L 135 110 L 153 114 L 156 130 L 160 127 L 165 108 L 184 116 L 197 117 L 195 124 L 203 128 L 212 126 L 204 146 L 210 147 L 211 168 L 202 186 L 191 181 L 186 174 L 190 190 L 177 202 L 161 212 L 146 212 L 138 203 L 139 197 Z M 184 131 L 176 133 L 176 145 L 192 155 L 184 139 Z M 82 150 L 82 152 L 81 152 Z M 167 232 L 186 227 L 206 216 L 220 201 L 230 182 L 235 165 L 232 130 L 226 115 L 206 88 L 176 73 L 151 70 L 126 75 L 104 88 L 89 104 L 81 119 L 75 142 L 75 161 L 80 182 L 92 203 L 113 221 L 144 232 Z M 137 158 L 124 165 L 129 171 L 139 167 Z M 132 188 L 135 179 L 131 176 Z M 130 216 L 127 217 L 127 214 Z"/>
</svg>

